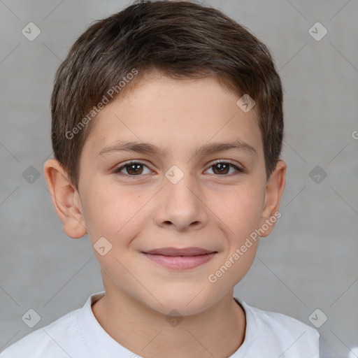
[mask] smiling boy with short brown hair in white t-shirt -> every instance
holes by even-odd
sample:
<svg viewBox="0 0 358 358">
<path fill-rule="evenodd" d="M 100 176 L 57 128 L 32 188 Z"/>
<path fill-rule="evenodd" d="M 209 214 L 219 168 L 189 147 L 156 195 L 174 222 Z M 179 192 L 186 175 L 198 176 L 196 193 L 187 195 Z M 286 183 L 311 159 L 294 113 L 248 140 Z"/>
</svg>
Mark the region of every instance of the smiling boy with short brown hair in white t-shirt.
<svg viewBox="0 0 358 358">
<path fill-rule="evenodd" d="M 1 358 L 319 357 L 315 329 L 233 297 L 285 188 L 263 43 L 213 8 L 137 1 L 78 38 L 51 106 L 45 178 L 105 292 Z"/>
</svg>

